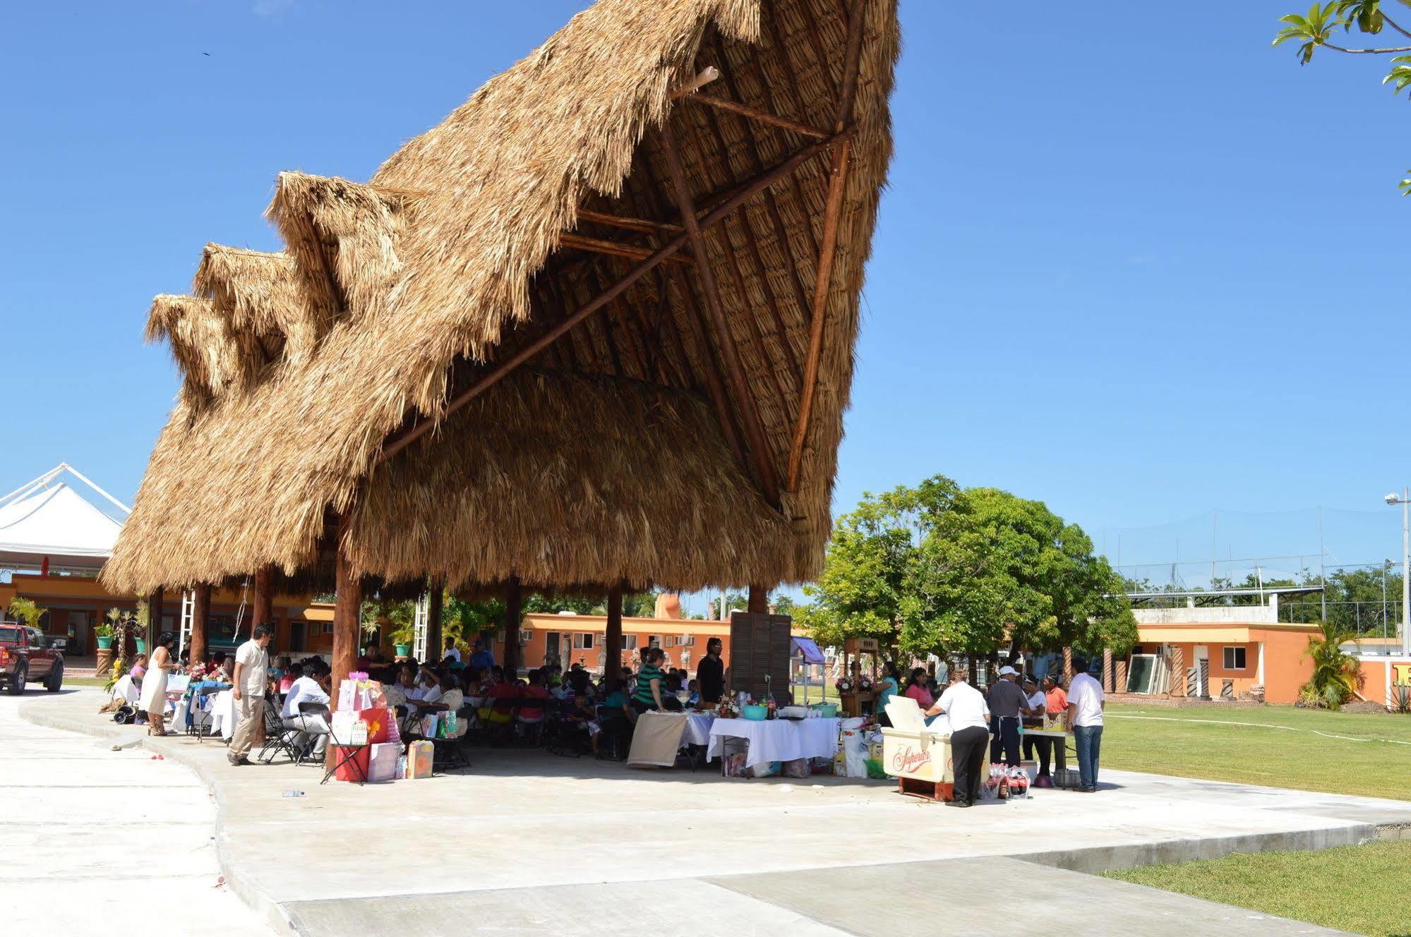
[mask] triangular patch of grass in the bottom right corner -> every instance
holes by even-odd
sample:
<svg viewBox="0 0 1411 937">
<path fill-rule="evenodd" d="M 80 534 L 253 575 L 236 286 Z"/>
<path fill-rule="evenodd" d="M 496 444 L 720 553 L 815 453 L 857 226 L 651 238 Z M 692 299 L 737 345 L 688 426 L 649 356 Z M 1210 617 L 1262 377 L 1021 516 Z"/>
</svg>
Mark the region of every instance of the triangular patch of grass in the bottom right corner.
<svg viewBox="0 0 1411 937">
<path fill-rule="evenodd" d="M 1357 934 L 1404 937 L 1411 933 L 1408 864 L 1411 841 L 1393 840 L 1316 852 L 1235 854 L 1103 875 Z"/>
</svg>

